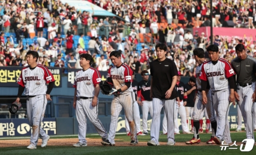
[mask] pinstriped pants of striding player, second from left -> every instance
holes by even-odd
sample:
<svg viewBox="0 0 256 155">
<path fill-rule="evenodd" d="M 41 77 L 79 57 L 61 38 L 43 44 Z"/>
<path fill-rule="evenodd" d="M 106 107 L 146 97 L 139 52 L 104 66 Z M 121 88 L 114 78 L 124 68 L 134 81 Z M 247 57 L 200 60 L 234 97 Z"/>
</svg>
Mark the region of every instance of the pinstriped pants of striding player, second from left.
<svg viewBox="0 0 256 155">
<path fill-rule="evenodd" d="M 76 101 L 76 119 L 78 121 L 78 139 L 81 144 L 86 144 L 86 127 L 88 118 L 96 131 L 100 134 L 102 138 L 107 138 L 107 131 L 103 127 L 100 119 L 98 118 L 98 105 L 96 107 L 91 106 L 92 98 L 89 99 L 78 99 Z"/>
</svg>

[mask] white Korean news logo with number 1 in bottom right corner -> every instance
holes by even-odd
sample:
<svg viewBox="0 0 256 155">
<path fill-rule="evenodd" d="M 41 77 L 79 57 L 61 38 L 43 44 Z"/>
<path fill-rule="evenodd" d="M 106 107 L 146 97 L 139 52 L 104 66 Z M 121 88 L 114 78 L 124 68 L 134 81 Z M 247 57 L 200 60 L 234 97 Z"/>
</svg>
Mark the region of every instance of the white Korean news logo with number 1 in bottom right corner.
<svg viewBox="0 0 256 155">
<path fill-rule="evenodd" d="M 245 145 L 246 144 L 246 145 Z M 240 151 L 242 152 L 249 152 L 253 149 L 253 146 L 255 144 L 254 139 L 245 139 L 242 141 L 242 144 L 240 145 Z M 225 151 L 227 148 L 230 150 L 237 150 L 238 145 L 236 145 L 236 141 L 234 141 L 234 144 L 229 145 L 229 144 L 224 144 L 224 140 L 221 142 L 221 151 Z"/>
</svg>

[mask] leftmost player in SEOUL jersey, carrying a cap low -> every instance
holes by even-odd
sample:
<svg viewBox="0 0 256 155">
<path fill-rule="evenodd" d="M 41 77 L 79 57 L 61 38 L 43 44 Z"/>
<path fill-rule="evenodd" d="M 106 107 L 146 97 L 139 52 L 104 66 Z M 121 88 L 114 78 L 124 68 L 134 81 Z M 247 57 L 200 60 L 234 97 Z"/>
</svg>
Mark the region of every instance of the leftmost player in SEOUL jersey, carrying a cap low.
<svg viewBox="0 0 256 155">
<path fill-rule="evenodd" d="M 38 137 L 42 139 L 41 147 L 45 147 L 50 138 L 41 128 L 41 122 L 45 113 L 47 100 L 52 100 L 50 93 L 54 86 L 52 73 L 44 66 L 37 64 L 38 52 L 27 52 L 28 66 L 21 69 L 17 83 L 19 90 L 16 102 L 20 103 L 21 95 L 26 88 L 27 95 L 27 119 L 32 127 L 30 145 L 27 149 L 37 149 Z M 47 85 L 48 88 L 47 88 Z"/>
</svg>

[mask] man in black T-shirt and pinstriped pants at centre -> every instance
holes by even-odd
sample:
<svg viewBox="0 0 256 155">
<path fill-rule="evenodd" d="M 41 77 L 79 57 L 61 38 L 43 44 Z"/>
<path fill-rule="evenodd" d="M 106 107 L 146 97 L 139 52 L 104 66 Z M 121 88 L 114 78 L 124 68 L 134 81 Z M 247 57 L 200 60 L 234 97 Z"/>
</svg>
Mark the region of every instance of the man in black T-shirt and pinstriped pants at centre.
<svg viewBox="0 0 256 155">
<path fill-rule="evenodd" d="M 159 144 L 160 112 L 164 107 L 167 118 L 167 145 L 174 145 L 174 107 L 177 82 L 177 67 L 171 59 L 166 59 L 167 47 L 164 43 L 155 46 L 157 59 L 150 64 L 151 89 L 153 98 L 153 118 L 150 129 L 151 140 L 147 145 Z"/>
</svg>

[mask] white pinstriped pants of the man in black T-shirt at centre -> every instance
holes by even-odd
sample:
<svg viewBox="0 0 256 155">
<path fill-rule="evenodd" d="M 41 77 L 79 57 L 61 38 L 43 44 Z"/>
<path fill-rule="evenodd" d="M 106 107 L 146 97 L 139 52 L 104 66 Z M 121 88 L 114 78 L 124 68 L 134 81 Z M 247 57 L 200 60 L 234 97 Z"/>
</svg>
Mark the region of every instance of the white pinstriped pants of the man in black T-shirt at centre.
<svg viewBox="0 0 256 155">
<path fill-rule="evenodd" d="M 174 139 L 174 108 L 175 99 L 165 100 L 159 98 L 153 98 L 153 118 L 150 128 L 151 140 L 155 141 L 155 144 L 159 144 L 159 132 L 160 132 L 160 113 L 164 107 L 166 119 L 167 119 L 167 140 L 175 142 Z"/>
</svg>

